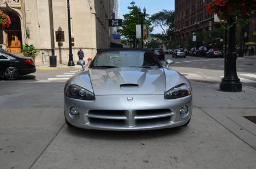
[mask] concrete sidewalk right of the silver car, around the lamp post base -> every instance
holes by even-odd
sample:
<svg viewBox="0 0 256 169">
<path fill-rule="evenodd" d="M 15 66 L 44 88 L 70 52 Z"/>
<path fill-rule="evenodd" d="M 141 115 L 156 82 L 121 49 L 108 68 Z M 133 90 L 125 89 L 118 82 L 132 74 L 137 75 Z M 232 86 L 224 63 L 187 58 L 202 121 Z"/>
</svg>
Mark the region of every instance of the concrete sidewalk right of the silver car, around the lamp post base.
<svg viewBox="0 0 256 169">
<path fill-rule="evenodd" d="M 243 86 L 241 92 L 223 92 L 218 83 L 191 83 L 193 105 L 256 150 L 256 88 Z"/>
</svg>

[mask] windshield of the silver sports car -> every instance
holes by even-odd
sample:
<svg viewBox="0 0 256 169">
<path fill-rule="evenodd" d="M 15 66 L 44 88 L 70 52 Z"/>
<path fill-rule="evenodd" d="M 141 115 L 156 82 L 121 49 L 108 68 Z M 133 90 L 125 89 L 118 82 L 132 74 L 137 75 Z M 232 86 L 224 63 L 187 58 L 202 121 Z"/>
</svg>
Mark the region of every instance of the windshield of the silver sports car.
<svg viewBox="0 0 256 169">
<path fill-rule="evenodd" d="M 113 67 L 162 67 L 154 53 L 145 51 L 107 51 L 96 55 L 89 66 L 94 69 Z"/>
</svg>

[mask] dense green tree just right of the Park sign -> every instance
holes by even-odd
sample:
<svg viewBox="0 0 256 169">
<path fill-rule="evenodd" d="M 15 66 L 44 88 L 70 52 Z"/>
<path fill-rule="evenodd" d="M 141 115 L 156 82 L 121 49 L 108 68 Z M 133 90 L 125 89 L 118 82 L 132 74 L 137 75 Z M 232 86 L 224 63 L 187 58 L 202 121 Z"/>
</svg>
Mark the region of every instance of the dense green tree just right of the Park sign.
<svg viewBox="0 0 256 169">
<path fill-rule="evenodd" d="M 118 32 L 122 36 L 125 36 L 125 39 L 129 41 L 130 44 L 133 44 L 133 47 L 136 47 L 136 24 L 141 24 L 140 9 L 138 6 L 135 6 L 135 2 L 132 1 L 131 6 L 127 7 L 130 12 L 129 14 L 123 15 L 122 28 L 118 29 Z M 146 14 L 146 17 L 148 14 Z M 149 24 L 148 20 L 145 18 L 143 24 Z M 150 29 L 151 30 L 151 29 Z M 150 31 L 149 30 L 149 31 Z"/>
</svg>

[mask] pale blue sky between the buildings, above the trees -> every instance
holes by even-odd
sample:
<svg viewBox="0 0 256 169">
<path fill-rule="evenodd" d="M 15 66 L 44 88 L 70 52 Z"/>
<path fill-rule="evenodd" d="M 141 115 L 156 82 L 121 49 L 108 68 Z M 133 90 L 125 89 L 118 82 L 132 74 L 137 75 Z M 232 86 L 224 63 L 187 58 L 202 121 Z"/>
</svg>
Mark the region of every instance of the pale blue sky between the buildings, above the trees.
<svg viewBox="0 0 256 169">
<path fill-rule="evenodd" d="M 146 8 L 146 13 L 149 15 L 153 15 L 162 10 L 174 11 L 174 1 L 175 0 L 119 0 L 120 6 L 120 19 L 123 19 L 124 14 L 129 13 L 128 6 L 131 6 L 130 3 L 134 1 L 135 6 L 138 6 L 143 10 Z M 162 33 L 162 29 L 160 27 L 154 28 L 152 33 Z"/>
</svg>

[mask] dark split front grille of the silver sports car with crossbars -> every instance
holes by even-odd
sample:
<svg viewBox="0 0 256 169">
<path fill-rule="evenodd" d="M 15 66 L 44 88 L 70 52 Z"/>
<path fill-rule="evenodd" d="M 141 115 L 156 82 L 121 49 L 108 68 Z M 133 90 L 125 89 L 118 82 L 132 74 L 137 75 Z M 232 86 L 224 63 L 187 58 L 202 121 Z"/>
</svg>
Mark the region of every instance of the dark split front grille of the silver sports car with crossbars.
<svg viewBox="0 0 256 169">
<path fill-rule="evenodd" d="M 86 117 L 94 126 L 131 127 L 170 123 L 173 115 L 171 109 L 91 110 Z"/>
</svg>

